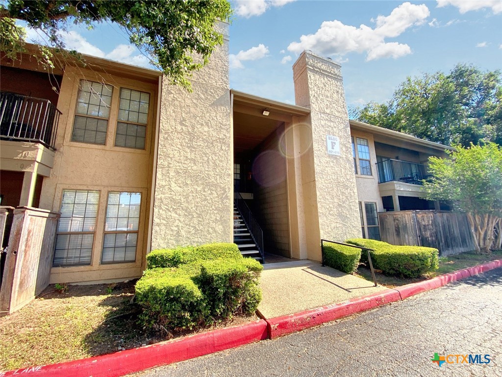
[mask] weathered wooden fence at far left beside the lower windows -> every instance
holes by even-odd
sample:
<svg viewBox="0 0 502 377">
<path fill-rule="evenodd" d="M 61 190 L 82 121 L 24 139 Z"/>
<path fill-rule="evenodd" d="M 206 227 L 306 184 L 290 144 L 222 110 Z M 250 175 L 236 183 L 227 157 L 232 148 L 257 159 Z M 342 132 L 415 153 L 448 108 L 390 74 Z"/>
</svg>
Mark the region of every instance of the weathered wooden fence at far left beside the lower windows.
<svg viewBox="0 0 502 377">
<path fill-rule="evenodd" d="M 0 316 L 21 309 L 49 285 L 59 216 L 38 208 L 14 210 L 0 289 Z"/>
</svg>

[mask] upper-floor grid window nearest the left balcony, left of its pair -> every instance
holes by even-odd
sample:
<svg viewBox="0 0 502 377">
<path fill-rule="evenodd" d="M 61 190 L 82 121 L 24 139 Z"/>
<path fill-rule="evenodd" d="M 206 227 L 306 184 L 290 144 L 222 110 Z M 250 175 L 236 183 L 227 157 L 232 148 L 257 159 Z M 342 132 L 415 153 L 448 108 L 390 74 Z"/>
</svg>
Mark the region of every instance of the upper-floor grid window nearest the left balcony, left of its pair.
<svg viewBox="0 0 502 377">
<path fill-rule="evenodd" d="M 111 86 L 80 80 L 72 141 L 105 144 L 111 95 Z"/>
</svg>

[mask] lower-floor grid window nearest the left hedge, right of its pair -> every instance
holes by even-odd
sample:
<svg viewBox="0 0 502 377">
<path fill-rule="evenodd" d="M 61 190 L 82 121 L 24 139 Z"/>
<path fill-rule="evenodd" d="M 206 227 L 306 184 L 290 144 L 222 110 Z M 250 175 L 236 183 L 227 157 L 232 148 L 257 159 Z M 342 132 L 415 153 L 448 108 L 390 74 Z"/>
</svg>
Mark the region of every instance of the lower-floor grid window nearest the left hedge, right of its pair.
<svg viewBox="0 0 502 377">
<path fill-rule="evenodd" d="M 101 263 L 134 262 L 141 193 L 108 193 Z"/>
</svg>

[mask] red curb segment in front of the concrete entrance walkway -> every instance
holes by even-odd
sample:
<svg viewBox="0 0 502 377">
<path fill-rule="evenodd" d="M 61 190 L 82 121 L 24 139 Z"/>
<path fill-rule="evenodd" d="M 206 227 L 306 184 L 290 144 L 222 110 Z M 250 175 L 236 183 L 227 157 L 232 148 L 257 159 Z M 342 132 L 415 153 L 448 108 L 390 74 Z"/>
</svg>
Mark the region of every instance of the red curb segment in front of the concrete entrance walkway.
<svg viewBox="0 0 502 377">
<path fill-rule="evenodd" d="M 269 324 L 270 338 L 274 339 L 399 300 L 401 300 L 399 293 L 389 289 L 342 303 L 326 305 L 266 321 Z"/>
</svg>

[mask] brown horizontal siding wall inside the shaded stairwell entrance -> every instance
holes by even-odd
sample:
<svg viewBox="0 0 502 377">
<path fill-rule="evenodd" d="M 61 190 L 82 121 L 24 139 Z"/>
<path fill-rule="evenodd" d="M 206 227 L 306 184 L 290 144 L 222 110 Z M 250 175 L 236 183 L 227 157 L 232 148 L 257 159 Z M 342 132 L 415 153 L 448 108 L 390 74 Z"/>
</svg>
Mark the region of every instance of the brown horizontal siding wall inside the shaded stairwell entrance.
<svg viewBox="0 0 502 377">
<path fill-rule="evenodd" d="M 284 125 L 257 149 L 253 163 L 254 205 L 264 231 L 265 251 L 290 256 L 286 159 L 279 150 Z"/>
</svg>

